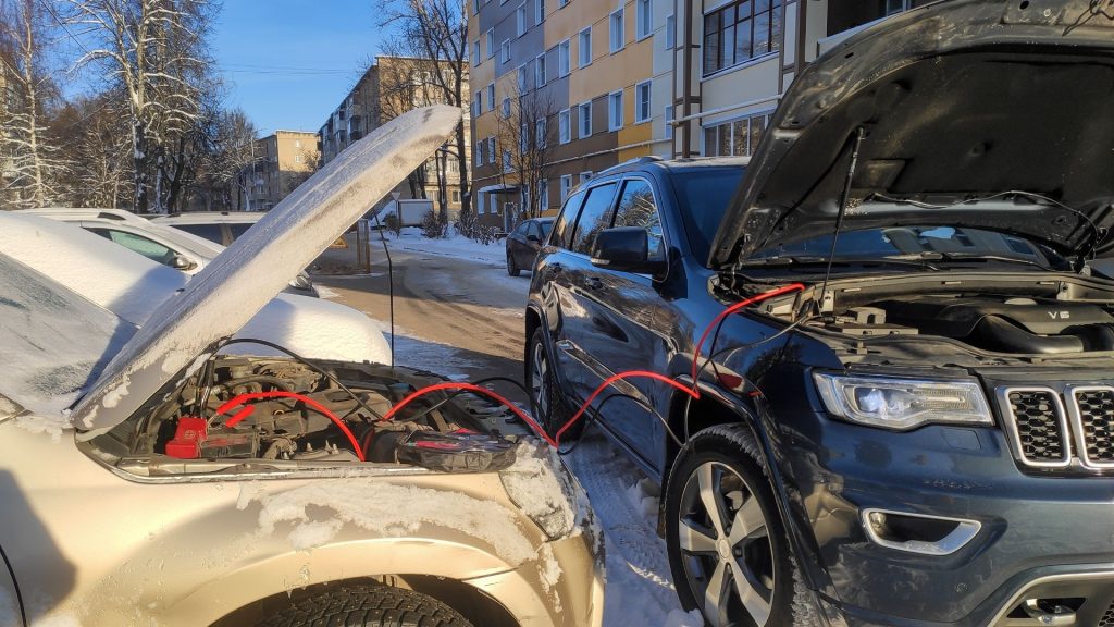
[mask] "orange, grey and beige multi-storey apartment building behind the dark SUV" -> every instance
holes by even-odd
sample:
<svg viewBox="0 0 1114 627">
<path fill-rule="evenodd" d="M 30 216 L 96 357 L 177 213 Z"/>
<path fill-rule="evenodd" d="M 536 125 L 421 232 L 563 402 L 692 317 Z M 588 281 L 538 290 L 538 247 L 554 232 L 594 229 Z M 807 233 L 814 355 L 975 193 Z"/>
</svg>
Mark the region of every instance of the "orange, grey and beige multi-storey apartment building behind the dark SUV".
<svg viewBox="0 0 1114 627">
<path fill-rule="evenodd" d="M 629 158 L 750 155 L 825 47 L 927 1 L 470 0 L 476 210 L 509 228 Z M 544 103 L 538 142 L 556 143 L 535 192 L 515 168 L 526 133 L 504 131 L 517 102 Z"/>
</svg>

